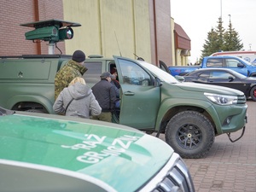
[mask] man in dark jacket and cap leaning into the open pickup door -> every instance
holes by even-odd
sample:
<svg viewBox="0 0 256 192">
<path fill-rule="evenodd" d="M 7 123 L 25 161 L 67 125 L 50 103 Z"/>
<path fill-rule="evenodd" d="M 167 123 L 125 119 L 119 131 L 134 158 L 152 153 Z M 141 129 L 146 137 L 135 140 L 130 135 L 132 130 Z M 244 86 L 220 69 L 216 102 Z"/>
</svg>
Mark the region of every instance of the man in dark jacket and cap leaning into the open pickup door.
<svg viewBox="0 0 256 192">
<path fill-rule="evenodd" d="M 112 113 L 115 108 L 116 100 L 114 85 L 110 83 L 112 78 L 113 75 L 111 73 L 104 72 L 101 75 L 101 81 L 91 88 L 96 100 L 102 108 L 102 113 L 92 117 L 92 119 L 112 122 Z"/>
</svg>

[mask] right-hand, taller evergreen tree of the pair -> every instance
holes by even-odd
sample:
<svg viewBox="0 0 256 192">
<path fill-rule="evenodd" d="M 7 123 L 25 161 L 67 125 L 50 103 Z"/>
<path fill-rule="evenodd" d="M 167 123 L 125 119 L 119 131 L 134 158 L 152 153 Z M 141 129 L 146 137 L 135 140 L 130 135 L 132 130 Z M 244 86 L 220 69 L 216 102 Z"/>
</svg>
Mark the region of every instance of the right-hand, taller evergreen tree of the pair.
<svg viewBox="0 0 256 192">
<path fill-rule="evenodd" d="M 231 20 L 228 30 L 224 33 L 224 49 L 225 51 L 229 50 L 241 50 L 243 44 L 241 44 L 241 39 L 239 39 L 238 32 L 232 28 Z"/>
</svg>

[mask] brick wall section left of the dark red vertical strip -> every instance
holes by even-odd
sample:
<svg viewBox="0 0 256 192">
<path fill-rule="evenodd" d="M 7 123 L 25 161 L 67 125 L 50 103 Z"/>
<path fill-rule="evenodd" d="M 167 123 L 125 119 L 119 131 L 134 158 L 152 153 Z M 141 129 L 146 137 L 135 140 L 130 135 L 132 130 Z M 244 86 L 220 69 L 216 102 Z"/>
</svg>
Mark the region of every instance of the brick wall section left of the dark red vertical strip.
<svg viewBox="0 0 256 192">
<path fill-rule="evenodd" d="M 36 44 L 30 44 L 25 40 L 24 34 L 27 32 L 27 27 L 20 26 L 22 23 L 35 20 L 34 3 L 33 1 L 23 2 L 23 0 L 1 1 L 0 55 L 36 54 Z"/>
</svg>

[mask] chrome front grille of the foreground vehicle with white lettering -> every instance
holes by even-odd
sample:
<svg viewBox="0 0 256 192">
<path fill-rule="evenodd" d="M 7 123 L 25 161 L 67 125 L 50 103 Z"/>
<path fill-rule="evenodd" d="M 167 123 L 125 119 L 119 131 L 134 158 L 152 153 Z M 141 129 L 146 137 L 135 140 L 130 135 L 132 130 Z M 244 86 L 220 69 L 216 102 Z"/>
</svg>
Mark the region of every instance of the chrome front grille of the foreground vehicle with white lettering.
<svg viewBox="0 0 256 192">
<path fill-rule="evenodd" d="M 166 163 L 166 166 L 139 191 L 194 192 L 195 188 L 189 173 L 189 168 L 178 154 L 173 153 L 171 160 Z"/>
</svg>

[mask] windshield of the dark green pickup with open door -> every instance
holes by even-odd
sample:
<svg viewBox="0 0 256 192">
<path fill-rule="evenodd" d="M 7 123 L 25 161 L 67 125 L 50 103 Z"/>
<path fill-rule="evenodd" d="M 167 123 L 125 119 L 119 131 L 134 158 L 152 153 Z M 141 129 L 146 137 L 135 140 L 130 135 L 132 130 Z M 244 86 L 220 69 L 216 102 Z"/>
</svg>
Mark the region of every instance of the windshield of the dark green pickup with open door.
<svg viewBox="0 0 256 192">
<path fill-rule="evenodd" d="M 180 83 L 177 79 L 175 79 L 171 74 L 166 73 L 160 67 L 156 67 L 153 64 L 150 64 L 145 61 L 137 61 L 140 63 L 143 67 L 147 68 L 151 73 L 153 73 L 155 76 L 157 76 L 160 80 L 165 81 L 169 84 L 177 84 Z"/>
</svg>

